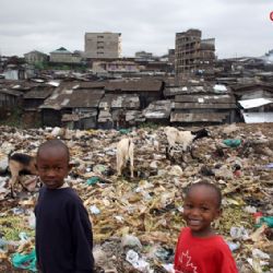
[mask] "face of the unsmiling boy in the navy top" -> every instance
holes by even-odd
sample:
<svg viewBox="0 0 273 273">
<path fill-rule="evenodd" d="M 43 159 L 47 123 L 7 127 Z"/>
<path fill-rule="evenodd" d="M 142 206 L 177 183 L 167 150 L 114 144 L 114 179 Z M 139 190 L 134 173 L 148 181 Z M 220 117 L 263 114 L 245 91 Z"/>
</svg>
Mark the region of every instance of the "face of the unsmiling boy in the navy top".
<svg viewBox="0 0 273 273">
<path fill-rule="evenodd" d="M 37 156 L 37 169 L 47 188 L 61 187 L 71 169 L 67 152 L 61 147 L 41 150 Z"/>
</svg>

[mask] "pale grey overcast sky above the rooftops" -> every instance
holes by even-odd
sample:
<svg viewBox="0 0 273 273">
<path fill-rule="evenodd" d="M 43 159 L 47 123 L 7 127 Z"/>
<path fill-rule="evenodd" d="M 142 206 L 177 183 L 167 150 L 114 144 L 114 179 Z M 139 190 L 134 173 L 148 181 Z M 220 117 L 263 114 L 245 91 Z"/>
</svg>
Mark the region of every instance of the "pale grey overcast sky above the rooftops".
<svg viewBox="0 0 273 273">
<path fill-rule="evenodd" d="M 123 57 L 161 56 L 199 28 L 218 58 L 259 57 L 273 49 L 272 11 L 273 0 L 0 0 L 0 54 L 84 50 L 86 32 L 114 32 Z"/>
</svg>

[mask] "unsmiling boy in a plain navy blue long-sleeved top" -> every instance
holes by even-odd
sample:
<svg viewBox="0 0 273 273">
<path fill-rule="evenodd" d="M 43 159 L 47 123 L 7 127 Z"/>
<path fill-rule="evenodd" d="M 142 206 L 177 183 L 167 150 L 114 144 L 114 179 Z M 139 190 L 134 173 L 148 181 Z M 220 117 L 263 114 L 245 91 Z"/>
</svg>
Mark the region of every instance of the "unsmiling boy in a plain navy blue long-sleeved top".
<svg viewBox="0 0 273 273">
<path fill-rule="evenodd" d="M 60 140 L 43 143 L 37 169 L 44 186 L 35 207 L 37 266 L 44 273 L 94 272 L 93 234 L 82 200 L 64 178 L 71 165 Z"/>
</svg>

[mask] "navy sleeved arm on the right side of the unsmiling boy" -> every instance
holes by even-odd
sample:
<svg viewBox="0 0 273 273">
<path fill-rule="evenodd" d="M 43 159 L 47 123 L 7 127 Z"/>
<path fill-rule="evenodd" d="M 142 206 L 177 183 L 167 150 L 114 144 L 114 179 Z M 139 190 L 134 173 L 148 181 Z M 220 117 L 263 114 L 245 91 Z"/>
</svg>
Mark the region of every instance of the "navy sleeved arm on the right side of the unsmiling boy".
<svg viewBox="0 0 273 273">
<path fill-rule="evenodd" d="M 93 273 L 93 233 L 88 214 L 81 202 L 73 207 L 72 240 L 75 273 Z"/>
</svg>

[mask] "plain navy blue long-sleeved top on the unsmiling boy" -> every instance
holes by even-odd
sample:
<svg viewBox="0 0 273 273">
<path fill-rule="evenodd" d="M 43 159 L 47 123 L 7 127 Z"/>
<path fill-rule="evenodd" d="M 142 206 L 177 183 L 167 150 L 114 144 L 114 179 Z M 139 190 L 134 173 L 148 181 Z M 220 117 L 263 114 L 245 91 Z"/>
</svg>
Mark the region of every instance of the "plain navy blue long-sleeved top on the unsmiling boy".
<svg viewBox="0 0 273 273">
<path fill-rule="evenodd" d="M 43 273 L 94 272 L 92 226 L 73 189 L 43 187 L 35 215 L 37 264 Z"/>
</svg>

